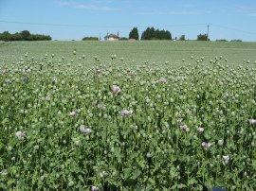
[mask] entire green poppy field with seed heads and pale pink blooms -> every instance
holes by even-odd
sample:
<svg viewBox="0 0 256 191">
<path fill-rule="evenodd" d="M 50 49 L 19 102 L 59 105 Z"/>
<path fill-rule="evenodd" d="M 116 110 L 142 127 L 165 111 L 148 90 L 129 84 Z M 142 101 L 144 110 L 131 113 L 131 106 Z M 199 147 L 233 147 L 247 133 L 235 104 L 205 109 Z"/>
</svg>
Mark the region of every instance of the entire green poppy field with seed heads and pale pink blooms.
<svg viewBox="0 0 256 191">
<path fill-rule="evenodd" d="M 0 190 L 255 190 L 256 43 L 0 43 Z"/>
</svg>

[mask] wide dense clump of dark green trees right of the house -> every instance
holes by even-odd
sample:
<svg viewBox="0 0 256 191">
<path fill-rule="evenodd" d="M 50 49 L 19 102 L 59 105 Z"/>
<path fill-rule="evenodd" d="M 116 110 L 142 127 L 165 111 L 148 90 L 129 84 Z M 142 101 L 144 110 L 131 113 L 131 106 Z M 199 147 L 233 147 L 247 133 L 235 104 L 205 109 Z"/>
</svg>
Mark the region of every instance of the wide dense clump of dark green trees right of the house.
<svg viewBox="0 0 256 191">
<path fill-rule="evenodd" d="M 147 27 L 142 32 L 141 40 L 172 40 L 172 35 L 168 30 L 155 30 L 154 27 Z"/>
</svg>

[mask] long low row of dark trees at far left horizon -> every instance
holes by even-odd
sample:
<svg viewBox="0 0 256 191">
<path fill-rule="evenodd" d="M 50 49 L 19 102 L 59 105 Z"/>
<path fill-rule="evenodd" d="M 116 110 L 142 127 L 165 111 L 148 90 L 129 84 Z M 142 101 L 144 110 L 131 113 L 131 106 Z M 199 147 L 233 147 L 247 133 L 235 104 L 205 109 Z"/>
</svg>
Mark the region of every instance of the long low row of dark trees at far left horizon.
<svg viewBox="0 0 256 191">
<path fill-rule="evenodd" d="M 0 41 L 51 41 L 51 37 L 43 34 L 30 34 L 28 30 L 14 34 L 9 33 L 9 31 L 4 31 L 0 33 Z"/>
</svg>

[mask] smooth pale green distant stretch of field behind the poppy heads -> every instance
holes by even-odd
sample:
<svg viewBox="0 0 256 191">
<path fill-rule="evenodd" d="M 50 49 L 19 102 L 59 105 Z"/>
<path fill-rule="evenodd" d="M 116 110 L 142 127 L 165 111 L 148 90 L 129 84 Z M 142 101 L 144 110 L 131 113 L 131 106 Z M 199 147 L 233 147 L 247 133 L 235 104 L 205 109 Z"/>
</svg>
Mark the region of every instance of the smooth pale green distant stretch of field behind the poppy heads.
<svg viewBox="0 0 256 191">
<path fill-rule="evenodd" d="M 73 50 L 77 55 L 85 55 L 86 63 L 91 64 L 94 56 L 101 61 L 110 61 L 116 54 L 127 64 L 132 61 L 144 61 L 157 64 L 169 61 L 176 65 L 182 59 L 189 60 L 191 56 L 204 57 L 206 61 L 214 57 L 223 56 L 229 64 L 240 64 L 244 60 L 256 61 L 256 43 L 229 43 L 229 42 L 13 42 L 0 43 L 0 63 L 17 61 L 27 52 L 29 56 L 43 59 L 46 54 L 55 54 L 55 58 L 65 57 L 72 59 Z"/>
</svg>

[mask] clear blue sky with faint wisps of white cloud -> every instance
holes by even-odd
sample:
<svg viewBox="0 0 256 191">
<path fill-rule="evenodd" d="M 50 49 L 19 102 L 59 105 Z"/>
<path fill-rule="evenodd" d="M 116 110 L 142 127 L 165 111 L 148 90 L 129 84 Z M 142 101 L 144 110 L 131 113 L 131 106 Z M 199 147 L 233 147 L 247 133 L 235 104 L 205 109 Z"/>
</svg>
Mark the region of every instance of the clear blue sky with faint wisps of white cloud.
<svg viewBox="0 0 256 191">
<path fill-rule="evenodd" d="M 128 37 L 147 26 L 173 38 L 241 39 L 256 42 L 255 0 L 0 0 L 0 32 L 47 34 L 53 40 L 81 40 L 107 32 Z"/>
</svg>

